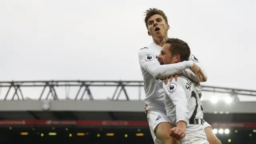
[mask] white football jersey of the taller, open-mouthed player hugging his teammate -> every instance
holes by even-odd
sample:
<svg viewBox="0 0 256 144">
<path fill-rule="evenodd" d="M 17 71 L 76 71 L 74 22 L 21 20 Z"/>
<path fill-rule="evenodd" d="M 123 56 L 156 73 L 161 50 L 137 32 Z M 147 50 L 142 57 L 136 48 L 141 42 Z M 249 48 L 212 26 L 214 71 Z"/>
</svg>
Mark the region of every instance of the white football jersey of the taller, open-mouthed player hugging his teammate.
<svg viewBox="0 0 256 144">
<path fill-rule="evenodd" d="M 160 50 L 161 47 L 152 42 L 149 46 L 141 48 L 138 55 L 144 80 L 145 103 L 148 104 L 147 110 L 162 110 L 165 112 L 164 90 L 162 89 L 162 80 L 159 79 L 181 72 L 188 78 L 197 81 L 196 75 L 189 68 L 193 66 L 193 62 L 199 64 L 199 61 L 194 55 L 191 55 L 189 61 L 160 65 L 157 60 Z M 198 66 L 203 70 L 200 65 Z M 205 72 L 204 74 L 206 75 Z"/>
</svg>

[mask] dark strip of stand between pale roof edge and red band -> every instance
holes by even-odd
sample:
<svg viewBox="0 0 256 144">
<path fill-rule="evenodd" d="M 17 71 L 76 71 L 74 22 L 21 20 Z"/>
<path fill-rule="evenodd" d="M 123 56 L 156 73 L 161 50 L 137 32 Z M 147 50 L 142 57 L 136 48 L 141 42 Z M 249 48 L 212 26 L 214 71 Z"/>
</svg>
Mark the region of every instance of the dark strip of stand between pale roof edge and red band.
<svg viewBox="0 0 256 144">
<path fill-rule="evenodd" d="M 0 119 L 147 120 L 143 112 L 0 112 Z M 207 122 L 256 122 L 256 114 L 204 114 Z"/>
</svg>

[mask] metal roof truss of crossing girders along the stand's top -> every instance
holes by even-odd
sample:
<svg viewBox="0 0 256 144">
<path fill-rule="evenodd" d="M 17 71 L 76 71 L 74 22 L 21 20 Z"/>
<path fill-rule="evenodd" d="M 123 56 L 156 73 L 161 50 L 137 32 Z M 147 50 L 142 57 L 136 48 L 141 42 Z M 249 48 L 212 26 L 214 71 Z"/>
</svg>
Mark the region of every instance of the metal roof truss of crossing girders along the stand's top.
<svg viewBox="0 0 256 144">
<path fill-rule="evenodd" d="M 18 100 L 24 100 L 22 94 L 22 88 L 24 87 L 42 87 L 43 90 L 38 96 L 39 100 L 48 100 L 52 97 L 53 100 L 58 100 L 58 95 L 56 93 L 56 87 L 79 87 L 76 96 L 73 100 L 83 100 L 85 95 L 89 97 L 89 100 L 94 100 L 92 92 L 90 90 L 91 87 L 106 87 L 106 86 L 116 86 L 116 90 L 112 96 L 111 100 L 118 100 L 121 92 L 123 91 L 126 100 L 130 100 L 126 87 L 138 87 L 138 97 L 140 99 L 141 90 L 143 87 L 143 81 L 87 81 L 87 80 L 52 80 L 52 81 L 3 81 L 0 82 L 0 88 L 8 88 L 8 91 L 5 94 L 4 100 L 7 99 L 10 94 L 10 90 L 14 89 L 14 94 L 12 94 L 11 100 L 14 98 L 18 98 Z M 43 98 L 43 94 L 48 90 L 48 93 L 45 98 Z M 82 91 L 82 96 L 81 95 Z M 246 95 L 246 96 L 256 96 L 256 90 L 243 90 L 236 88 L 224 88 L 217 86 L 202 86 L 202 91 L 208 92 L 220 92 L 220 93 L 229 93 L 235 98 L 237 95 Z M 1 95 L 0 95 L 1 96 Z"/>
</svg>

